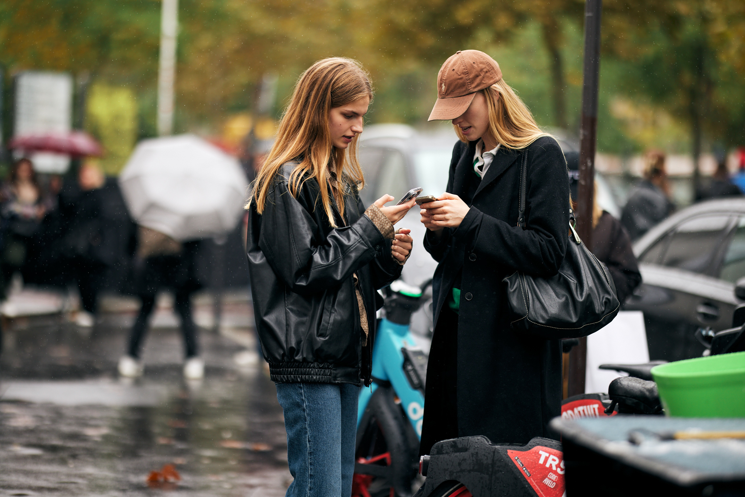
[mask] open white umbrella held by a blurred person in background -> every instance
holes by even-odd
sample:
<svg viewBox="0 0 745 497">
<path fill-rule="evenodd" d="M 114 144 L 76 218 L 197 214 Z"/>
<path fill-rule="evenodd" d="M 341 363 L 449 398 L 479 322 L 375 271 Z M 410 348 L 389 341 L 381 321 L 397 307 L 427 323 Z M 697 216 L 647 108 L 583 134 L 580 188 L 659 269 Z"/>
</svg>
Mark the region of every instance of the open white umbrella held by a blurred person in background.
<svg viewBox="0 0 745 497">
<path fill-rule="evenodd" d="M 248 182 L 234 157 L 197 136 L 180 135 L 140 142 L 119 185 L 139 224 L 185 241 L 235 228 Z"/>
</svg>

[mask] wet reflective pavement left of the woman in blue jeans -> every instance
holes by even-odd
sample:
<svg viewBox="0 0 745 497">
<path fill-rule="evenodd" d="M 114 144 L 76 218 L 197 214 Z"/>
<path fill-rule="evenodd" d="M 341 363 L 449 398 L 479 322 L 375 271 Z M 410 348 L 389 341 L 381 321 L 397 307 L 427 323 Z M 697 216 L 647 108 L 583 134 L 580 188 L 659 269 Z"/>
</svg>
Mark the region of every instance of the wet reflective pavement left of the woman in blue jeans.
<svg viewBox="0 0 745 497">
<path fill-rule="evenodd" d="M 118 378 L 136 304 L 114 300 L 94 330 L 59 314 L 6 323 L 0 358 L 1 496 L 283 496 L 282 409 L 253 349 L 245 296 L 220 332 L 201 329 L 205 379 L 183 379 L 177 321 L 161 301 L 145 375 Z M 209 321 L 197 299 L 197 323 Z M 261 360 L 263 362 L 263 360 Z M 146 482 L 172 464 L 180 481 Z"/>
</svg>

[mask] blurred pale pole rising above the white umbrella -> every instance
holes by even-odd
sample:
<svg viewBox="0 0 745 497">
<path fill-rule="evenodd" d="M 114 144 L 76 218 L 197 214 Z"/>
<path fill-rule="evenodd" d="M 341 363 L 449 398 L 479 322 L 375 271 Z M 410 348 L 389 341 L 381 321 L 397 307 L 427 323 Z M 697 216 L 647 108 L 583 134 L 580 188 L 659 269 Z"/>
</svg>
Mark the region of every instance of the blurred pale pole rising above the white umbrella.
<svg viewBox="0 0 745 497">
<path fill-rule="evenodd" d="M 160 13 L 160 65 L 158 68 L 158 135 L 174 131 L 174 80 L 179 0 L 162 0 Z"/>
</svg>

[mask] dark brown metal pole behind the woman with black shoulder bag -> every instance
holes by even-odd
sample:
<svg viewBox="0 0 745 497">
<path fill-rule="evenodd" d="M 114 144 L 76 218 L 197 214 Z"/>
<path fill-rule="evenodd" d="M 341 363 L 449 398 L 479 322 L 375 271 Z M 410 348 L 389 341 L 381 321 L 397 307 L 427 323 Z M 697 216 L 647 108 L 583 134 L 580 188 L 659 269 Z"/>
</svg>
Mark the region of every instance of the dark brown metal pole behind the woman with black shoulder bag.
<svg viewBox="0 0 745 497">
<path fill-rule="evenodd" d="M 577 232 L 592 247 L 592 206 L 595 195 L 595 139 L 597 130 L 597 83 L 600 79 L 600 14 L 602 0 L 585 2 L 585 55 L 580 125 L 580 185 L 577 191 Z M 587 339 L 569 354 L 569 396 L 585 393 Z"/>
</svg>

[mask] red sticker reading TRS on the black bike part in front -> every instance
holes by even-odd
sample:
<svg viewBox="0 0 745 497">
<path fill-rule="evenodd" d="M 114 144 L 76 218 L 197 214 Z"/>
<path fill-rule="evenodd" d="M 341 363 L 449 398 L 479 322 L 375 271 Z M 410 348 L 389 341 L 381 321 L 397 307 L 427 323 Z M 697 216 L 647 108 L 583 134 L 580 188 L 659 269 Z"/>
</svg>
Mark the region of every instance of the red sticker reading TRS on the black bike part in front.
<svg viewBox="0 0 745 497">
<path fill-rule="evenodd" d="M 561 451 L 537 446 L 525 452 L 508 449 L 507 455 L 540 497 L 564 495 L 564 455 Z"/>
</svg>

